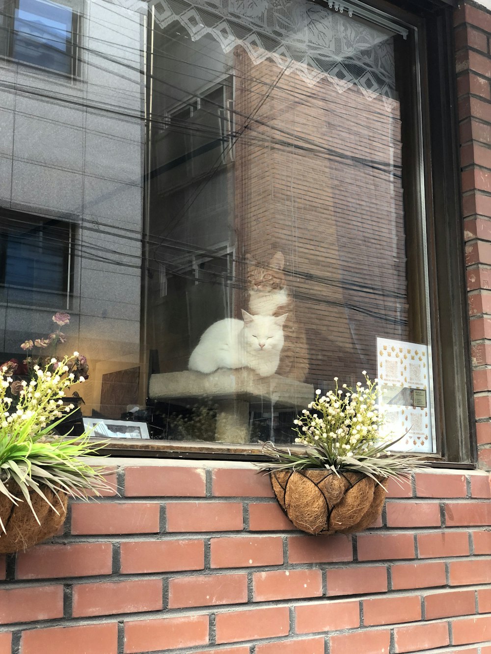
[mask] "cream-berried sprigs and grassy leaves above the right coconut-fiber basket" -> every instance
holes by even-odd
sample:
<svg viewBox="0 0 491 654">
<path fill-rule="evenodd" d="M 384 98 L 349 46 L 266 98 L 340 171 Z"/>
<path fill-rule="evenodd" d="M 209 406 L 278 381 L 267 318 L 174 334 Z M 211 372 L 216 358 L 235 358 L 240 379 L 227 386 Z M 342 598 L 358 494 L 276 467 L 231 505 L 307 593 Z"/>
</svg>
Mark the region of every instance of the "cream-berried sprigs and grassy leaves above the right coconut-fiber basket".
<svg viewBox="0 0 491 654">
<path fill-rule="evenodd" d="M 399 438 L 380 438 L 384 416 L 378 411 L 378 383 L 371 381 L 365 371 L 363 375 L 365 385 L 358 382 L 355 388 L 346 384 L 340 388 L 335 377 L 335 390 L 325 395 L 317 390 L 316 399 L 294 421 L 295 443 L 304 449 L 264 443 L 263 453 L 272 461 L 261 462 L 259 468 L 321 468 L 337 475 L 358 472 L 378 482 L 381 478 L 407 477 L 412 470 L 425 467 L 427 463 L 421 455 L 390 452 L 405 434 Z"/>
</svg>

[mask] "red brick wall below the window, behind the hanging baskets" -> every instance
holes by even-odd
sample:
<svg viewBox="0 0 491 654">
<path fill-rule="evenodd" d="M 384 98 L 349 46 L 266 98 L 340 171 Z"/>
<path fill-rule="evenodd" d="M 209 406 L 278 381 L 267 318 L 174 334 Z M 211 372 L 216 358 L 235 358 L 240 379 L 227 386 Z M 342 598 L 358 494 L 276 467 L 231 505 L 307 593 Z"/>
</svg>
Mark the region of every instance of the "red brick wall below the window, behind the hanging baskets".
<svg viewBox="0 0 491 654">
<path fill-rule="evenodd" d="M 248 464 L 126 464 L 0 558 L 0 654 L 491 652 L 486 473 L 418 473 L 374 528 L 312 537 Z"/>
</svg>

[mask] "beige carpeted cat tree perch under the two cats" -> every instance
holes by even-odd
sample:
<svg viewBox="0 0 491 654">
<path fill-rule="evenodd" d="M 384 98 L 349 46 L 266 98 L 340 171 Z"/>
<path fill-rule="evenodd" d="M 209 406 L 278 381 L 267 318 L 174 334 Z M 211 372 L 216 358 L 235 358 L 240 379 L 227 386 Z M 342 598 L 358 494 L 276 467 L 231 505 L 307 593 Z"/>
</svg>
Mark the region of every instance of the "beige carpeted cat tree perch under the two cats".
<svg viewBox="0 0 491 654">
<path fill-rule="evenodd" d="M 189 405 L 193 398 L 213 398 L 218 405 L 215 440 L 228 443 L 249 441 L 249 410 L 297 410 L 314 397 L 314 387 L 280 375 L 259 377 L 249 368 L 217 370 L 209 375 L 194 370 L 151 375 L 152 400 L 172 400 Z"/>
</svg>

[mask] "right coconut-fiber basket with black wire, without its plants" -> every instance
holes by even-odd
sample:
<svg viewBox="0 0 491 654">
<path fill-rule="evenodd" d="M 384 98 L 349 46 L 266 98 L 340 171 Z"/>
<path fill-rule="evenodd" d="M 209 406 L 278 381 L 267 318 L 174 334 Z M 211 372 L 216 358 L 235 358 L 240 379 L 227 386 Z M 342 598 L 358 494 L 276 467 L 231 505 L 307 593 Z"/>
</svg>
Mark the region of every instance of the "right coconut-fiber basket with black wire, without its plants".
<svg viewBox="0 0 491 654">
<path fill-rule="evenodd" d="M 291 522 L 308 534 L 350 534 L 376 521 L 386 498 L 380 484 L 356 472 L 278 470 L 270 473 L 280 506 Z"/>
</svg>

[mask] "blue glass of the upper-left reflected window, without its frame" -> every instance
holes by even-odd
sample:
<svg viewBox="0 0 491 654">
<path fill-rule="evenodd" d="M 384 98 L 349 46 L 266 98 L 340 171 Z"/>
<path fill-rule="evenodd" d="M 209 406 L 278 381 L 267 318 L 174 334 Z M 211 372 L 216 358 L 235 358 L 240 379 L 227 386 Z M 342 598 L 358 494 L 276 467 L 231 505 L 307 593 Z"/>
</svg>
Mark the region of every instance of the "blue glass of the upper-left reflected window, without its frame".
<svg viewBox="0 0 491 654">
<path fill-rule="evenodd" d="M 49 0 L 18 0 L 12 57 L 69 73 L 73 11 Z"/>
</svg>

